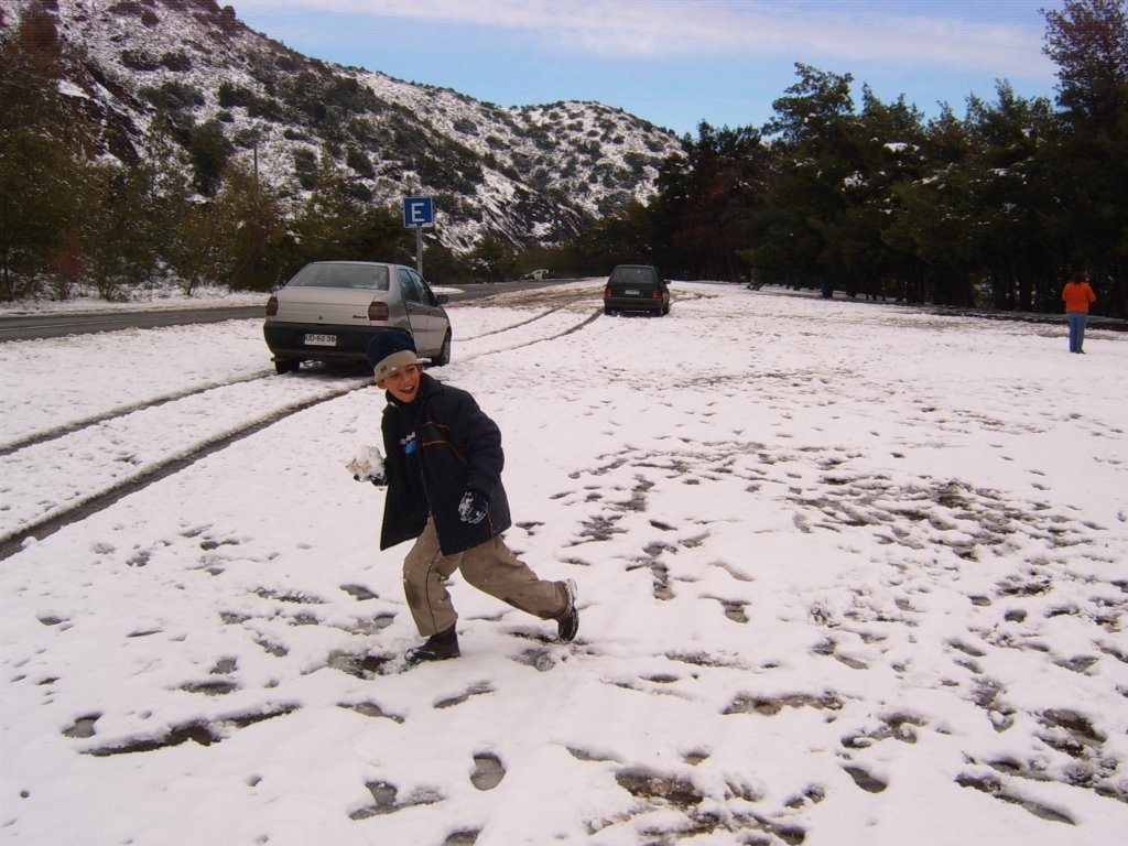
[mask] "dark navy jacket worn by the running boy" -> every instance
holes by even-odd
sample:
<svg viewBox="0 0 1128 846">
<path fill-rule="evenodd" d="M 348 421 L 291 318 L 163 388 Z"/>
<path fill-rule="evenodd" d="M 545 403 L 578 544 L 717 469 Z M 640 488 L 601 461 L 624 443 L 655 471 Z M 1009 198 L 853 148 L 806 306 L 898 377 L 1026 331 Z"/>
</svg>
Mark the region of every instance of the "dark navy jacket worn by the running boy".
<svg viewBox="0 0 1128 846">
<path fill-rule="evenodd" d="M 414 402 L 400 403 L 390 393 L 387 400 L 380 422 L 388 481 L 380 548 L 418 537 L 429 514 L 434 517 L 443 555 L 465 552 L 505 531 L 511 518 L 501 484 L 505 464 L 501 430 L 474 397 L 423 373 Z M 476 525 L 458 519 L 458 503 L 467 488 L 490 500 L 488 515 Z"/>
</svg>

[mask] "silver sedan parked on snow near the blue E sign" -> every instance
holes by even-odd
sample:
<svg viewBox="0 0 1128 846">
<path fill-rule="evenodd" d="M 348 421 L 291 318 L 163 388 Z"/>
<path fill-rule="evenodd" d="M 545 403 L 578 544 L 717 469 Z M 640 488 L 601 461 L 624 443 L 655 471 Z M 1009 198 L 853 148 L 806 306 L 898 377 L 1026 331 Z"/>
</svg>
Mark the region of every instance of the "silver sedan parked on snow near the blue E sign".
<svg viewBox="0 0 1128 846">
<path fill-rule="evenodd" d="M 450 319 L 413 268 L 378 262 L 307 264 L 266 303 L 263 335 L 280 373 L 302 361 L 364 361 L 379 332 L 406 332 L 433 367 L 450 361 Z"/>
</svg>

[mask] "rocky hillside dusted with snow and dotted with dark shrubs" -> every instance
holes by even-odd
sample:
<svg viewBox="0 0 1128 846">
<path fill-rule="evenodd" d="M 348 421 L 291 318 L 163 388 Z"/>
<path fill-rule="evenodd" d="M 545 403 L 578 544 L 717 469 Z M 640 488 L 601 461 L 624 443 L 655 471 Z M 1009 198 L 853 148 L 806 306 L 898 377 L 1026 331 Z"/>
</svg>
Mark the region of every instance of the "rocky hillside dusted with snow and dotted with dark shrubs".
<svg viewBox="0 0 1128 846">
<path fill-rule="evenodd" d="M 492 232 L 548 244 L 585 215 L 653 192 L 680 149 L 670 132 L 598 103 L 502 108 L 378 70 L 309 59 L 213 0 L 0 0 L 0 37 L 28 10 L 63 45 L 64 94 L 92 115 L 106 155 L 147 155 L 158 108 L 214 121 L 235 159 L 289 196 L 323 157 L 372 202 L 433 195 L 456 252 Z M 37 43 L 53 41 L 39 34 Z"/>
</svg>

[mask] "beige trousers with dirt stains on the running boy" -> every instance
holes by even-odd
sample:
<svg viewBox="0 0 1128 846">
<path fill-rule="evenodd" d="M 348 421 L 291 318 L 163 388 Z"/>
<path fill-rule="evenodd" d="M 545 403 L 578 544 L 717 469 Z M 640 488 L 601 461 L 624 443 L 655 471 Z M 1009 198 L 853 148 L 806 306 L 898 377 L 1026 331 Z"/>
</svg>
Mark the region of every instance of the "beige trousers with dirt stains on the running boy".
<svg viewBox="0 0 1128 846">
<path fill-rule="evenodd" d="M 434 520 L 429 519 L 404 558 L 404 594 L 424 637 L 446 632 L 458 619 L 444 584 L 456 570 L 478 590 L 540 619 L 553 619 L 567 609 L 564 582 L 537 576 L 501 537 L 464 553 L 443 555 Z"/>
</svg>

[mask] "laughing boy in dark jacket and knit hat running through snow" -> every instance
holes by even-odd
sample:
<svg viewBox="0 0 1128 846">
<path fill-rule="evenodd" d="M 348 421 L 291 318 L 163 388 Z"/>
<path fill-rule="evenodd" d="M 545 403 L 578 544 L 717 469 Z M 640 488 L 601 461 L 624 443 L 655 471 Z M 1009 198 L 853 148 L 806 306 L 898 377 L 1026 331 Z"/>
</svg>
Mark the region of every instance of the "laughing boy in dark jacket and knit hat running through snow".
<svg viewBox="0 0 1128 846">
<path fill-rule="evenodd" d="M 502 539 L 512 521 L 497 424 L 470 394 L 424 373 L 405 333 L 374 335 L 368 361 L 388 402 L 380 548 L 415 539 L 404 559 L 404 592 L 426 641 L 408 651 L 408 662 L 460 654 L 458 615 L 444 585 L 456 570 L 478 590 L 556 620 L 559 640 L 572 641 L 580 627 L 575 582 L 539 579 Z"/>
</svg>

